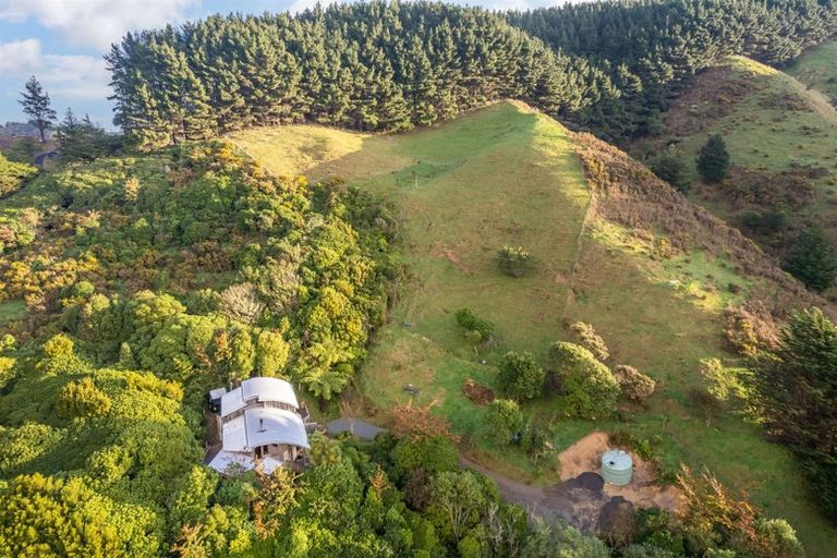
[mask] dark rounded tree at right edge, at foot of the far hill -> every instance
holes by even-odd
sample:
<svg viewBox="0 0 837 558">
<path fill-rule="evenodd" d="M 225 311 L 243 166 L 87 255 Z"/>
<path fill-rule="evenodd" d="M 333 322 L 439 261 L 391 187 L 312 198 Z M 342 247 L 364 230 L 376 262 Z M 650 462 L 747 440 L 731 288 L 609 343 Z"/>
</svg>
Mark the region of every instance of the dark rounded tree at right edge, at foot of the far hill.
<svg viewBox="0 0 837 558">
<path fill-rule="evenodd" d="M 837 256 L 818 226 L 808 228 L 785 260 L 785 269 L 815 291 L 828 289 L 837 278 Z"/>
</svg>

